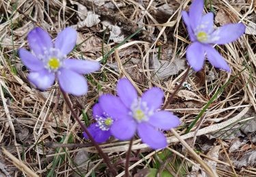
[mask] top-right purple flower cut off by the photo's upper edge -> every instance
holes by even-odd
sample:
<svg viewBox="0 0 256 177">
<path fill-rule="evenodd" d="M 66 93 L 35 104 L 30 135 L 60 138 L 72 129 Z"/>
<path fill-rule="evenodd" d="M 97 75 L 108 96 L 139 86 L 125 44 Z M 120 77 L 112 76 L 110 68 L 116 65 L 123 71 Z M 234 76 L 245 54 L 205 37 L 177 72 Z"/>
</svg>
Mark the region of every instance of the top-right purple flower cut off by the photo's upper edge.
<svg viewBox="0 0 256 177">
<path fill-rule="evenodd" d="M 195 71 L 202 69 L 206 53 L 214 67 L 230 71 L 225 59 L 210 44 L 227 44 L 235 41 L 244 33 L 245 26 L 242 23 L 228 24 L 214 30 L 214 15 L 212 12 L 203 15 L 203 0 L 194 0 L 189 12 L 182 12 L 182 18 L 193 42 L 186 51 L 189 65 Z"/>
</svg>

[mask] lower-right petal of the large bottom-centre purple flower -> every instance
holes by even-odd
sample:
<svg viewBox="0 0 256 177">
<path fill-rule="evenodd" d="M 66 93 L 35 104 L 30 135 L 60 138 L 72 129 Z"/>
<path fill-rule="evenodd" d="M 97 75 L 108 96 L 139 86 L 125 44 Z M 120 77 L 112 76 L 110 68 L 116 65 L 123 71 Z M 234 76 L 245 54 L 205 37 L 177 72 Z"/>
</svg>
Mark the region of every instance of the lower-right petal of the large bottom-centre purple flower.
<svg viewBox="0 0 256 177">
<path fill-rule="evenodd" d="M 158 149 L 167 146 L 167 140 L 164 133 L 157 131 L 148 123 L 139 123 L 138 134 L 142 142 L 151 148 Z"/>
</svg>

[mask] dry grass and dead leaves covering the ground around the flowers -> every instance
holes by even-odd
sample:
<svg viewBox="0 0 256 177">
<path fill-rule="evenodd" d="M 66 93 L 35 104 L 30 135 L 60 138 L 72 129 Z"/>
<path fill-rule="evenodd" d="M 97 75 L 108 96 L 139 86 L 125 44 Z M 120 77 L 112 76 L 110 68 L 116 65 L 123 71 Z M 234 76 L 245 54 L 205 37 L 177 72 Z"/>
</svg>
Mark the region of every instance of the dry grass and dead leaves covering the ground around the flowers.
<svg viewBox="0 0 256 177">
<path fill-rule="evenodd" d="M 41 27 L 54 39 L 72 27 L 78 38 L 68 57 L 101 61 L 100 71 L 85 76 L 87 95 L 70 95 L 88 126 L 98 97 L 115 95 L 124 76 L 141 93 L 162 88 L 167 101 L 188 67 L 190 39 L 181 12 L 189 5 L 190 0 L 1 0 L 0 176 L 111 176 L 83 138 L 57 83 L 39 91 L 27 80 L 29 69 L 17 51 L 29 50 L 31 29 Z M 218 176 L 256 176 L 255 7 L 254 0 L 205 1 L 204 12 L 214 13 L 215 27 L 246 25 L 236 42 L 215 46 L 231 72 L 207 60 L 201 71 L 190 69 L 167 106 L 181 120 L 175 128 L 179 135 L 165 131 L 165 150 L 152 150 L 136 138 L 132 176 L 208 176 L 202 161 Z M 128 144 L 111 138 L 101 145 L 118 176 L 124 175 Z"/>
</svg>

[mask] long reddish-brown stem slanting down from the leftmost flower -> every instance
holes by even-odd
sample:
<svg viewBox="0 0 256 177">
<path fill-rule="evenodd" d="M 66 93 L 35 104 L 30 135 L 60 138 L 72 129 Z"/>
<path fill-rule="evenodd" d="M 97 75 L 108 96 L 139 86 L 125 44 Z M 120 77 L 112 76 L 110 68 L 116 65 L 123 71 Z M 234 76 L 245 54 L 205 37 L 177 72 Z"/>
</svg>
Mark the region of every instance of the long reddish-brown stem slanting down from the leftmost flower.
<svg viewBox="0 0 256 177">
<path fill-rule="evenodd" d="M 113 174 L 113 176 L 117 175 L 117 171 L 115 170 L 115 168 L 113 167 L 113 165 L 111 164 L 109 157 L 107 155 L 104 154 L 104 152 L 102 151 L 102 148 L 100 148 L 100 146 L 98 145 L 98 143 L 94 140 L 94 138 L 91 136 L 91 134 L 89 133 L 87 127 L 85 127 L 85 125 L 81 122 L 81 120 L 79 119 L 79 116 L 77 116 L 76 112 L 74 112 L 73 108 L 72 108 L 72 104 L 70 103 L 70 100 L 68 99 L 68 95 L 61 90 L 61 93 L 63 95 L 63 99 L 65 100 L 68 108 L 71 111 L 72 116 L 76 119 L 76 121 L 79 123 L 79 125 L 82 127 L 83 131 L 85 131 L 85 133 L 87 134 L 89 140 L 91 140 L 92 144 L 94 144 L 95 148 L 98 150 L 98 152 L 100 153 L 102 159 L 104 160 L 104 162 L 106 163 L 107 167 L 109 167 L 109 170 L 111 171 L 111 174 Z"/>
</svg>

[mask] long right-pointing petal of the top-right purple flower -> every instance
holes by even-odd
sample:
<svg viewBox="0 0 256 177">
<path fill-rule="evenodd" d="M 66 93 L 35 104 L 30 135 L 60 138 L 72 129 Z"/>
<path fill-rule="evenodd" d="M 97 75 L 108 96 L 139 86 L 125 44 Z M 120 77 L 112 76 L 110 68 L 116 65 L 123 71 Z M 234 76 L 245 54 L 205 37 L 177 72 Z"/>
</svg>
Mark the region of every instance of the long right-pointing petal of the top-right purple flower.
<svg viewBox="0 0 256 177">
<path fill-rule="evenodd" d="M 244 24 L 228 24 L 219 27 L 211 35 L 212 44 L 227 44 L 238 39 L 245 32 Z"/>
</svg>

